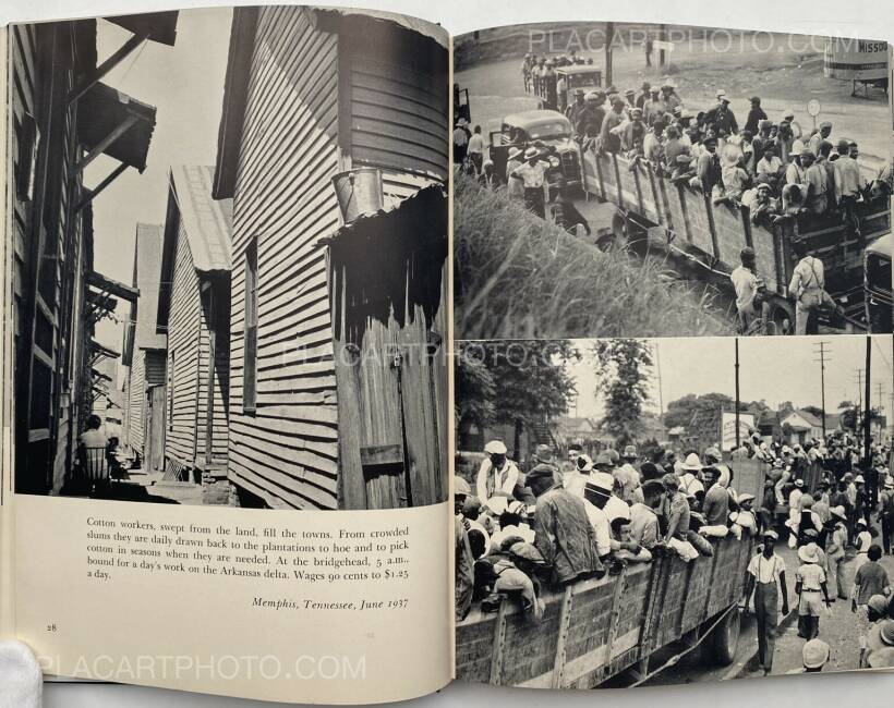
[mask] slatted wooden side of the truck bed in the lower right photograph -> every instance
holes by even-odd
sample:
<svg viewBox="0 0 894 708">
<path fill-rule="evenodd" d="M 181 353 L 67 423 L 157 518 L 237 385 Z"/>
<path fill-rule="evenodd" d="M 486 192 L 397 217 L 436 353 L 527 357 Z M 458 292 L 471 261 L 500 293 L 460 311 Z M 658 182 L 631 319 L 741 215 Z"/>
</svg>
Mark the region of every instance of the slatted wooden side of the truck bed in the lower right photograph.
<svg viewBox="0 0 894 708">
<path fill-rule="evenodd" d="M 457 678 L 497 685 L 591 688 L 710 624 L 741 598 L 752 542 L 712 542 L 714 556 L 676 554 L 546 591 L 540 623 L 517 602 L 474 608 L 457 624 Z"/>
</svg>

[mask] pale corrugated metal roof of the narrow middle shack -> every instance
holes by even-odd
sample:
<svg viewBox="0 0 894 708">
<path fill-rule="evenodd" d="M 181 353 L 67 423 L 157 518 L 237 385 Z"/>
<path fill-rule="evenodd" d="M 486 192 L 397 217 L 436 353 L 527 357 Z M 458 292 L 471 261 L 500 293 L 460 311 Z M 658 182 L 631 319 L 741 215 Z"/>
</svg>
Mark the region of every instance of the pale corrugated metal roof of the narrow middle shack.
<svg viewBox="0 0 894 708">
<path fill-rule="evenodd" d="M 171 190 L 193 266 L 202 272 L 232 268 L 233 200 L 213 199 L 213 183 L 210 166 L 171 167 Z"/>
</svg>

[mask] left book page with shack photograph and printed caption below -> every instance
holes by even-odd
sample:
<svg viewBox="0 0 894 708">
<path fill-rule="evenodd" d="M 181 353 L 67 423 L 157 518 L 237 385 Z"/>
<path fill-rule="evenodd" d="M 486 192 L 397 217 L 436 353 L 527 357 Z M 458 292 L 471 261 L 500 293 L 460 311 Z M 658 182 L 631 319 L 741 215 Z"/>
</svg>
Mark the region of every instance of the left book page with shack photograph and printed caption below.
<svg viewBox="0 0 894 708">
<path fill-rule="evenodd" d="M 63 676 L 445 685 L 447 34 L 307 7 L 4 32 L 0 632 Z"/>
</svg>

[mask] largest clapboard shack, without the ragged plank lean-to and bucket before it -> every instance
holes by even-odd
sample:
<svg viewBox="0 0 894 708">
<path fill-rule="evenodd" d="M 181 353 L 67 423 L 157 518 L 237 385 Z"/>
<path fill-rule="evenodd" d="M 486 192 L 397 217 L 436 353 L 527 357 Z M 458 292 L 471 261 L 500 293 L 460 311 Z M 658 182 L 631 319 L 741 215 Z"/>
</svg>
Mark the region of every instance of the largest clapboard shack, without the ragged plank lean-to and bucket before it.
<svg viewBox="0 0 894 708">
<path fill-rule="evenodd" d="M 389 208 L 445 181 L 448 103 L 437 28 L 384 13 L 234 10 L 215 197 L 233 198 L 229 476 L 240 503 L 339 504 L 345 424 L 318 247 L 342 225 L 331 178 L 379 169 Z"/>
</svg>

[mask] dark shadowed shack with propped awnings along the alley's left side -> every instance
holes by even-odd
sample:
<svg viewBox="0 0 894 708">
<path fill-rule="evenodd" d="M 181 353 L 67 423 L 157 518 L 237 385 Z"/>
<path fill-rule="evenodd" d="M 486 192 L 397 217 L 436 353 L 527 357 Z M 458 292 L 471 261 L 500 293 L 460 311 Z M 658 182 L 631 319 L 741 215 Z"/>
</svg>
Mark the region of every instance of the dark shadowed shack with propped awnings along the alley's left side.
<svg viewBox="0 0 894 708">
<path fill-rule="evenodd" d="M 12 283 L 16 490 L 59 493 L 109 355 L 99 317 L 134 291 L 94 270 L 92 203 L 128 168 L 146 167 L 155 109 L 100 80 L 146 40 L 172 45 L 177 13 L 113 20 L 132 36 L 97 66 L 96 20 L 9 27 L 7 233 Z M 84 169 L 117 167 L 87 187 Z M 101 243 L 101 241 L 99 242 Z"/>
</svg>

